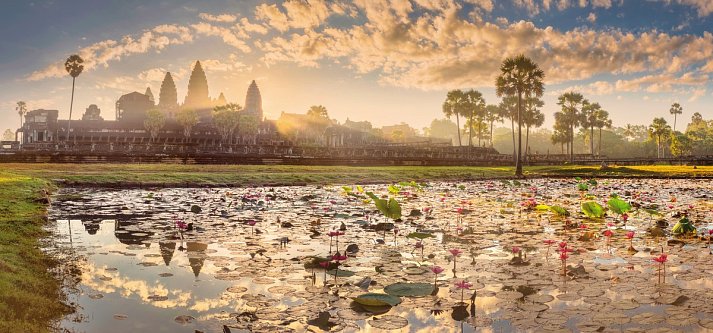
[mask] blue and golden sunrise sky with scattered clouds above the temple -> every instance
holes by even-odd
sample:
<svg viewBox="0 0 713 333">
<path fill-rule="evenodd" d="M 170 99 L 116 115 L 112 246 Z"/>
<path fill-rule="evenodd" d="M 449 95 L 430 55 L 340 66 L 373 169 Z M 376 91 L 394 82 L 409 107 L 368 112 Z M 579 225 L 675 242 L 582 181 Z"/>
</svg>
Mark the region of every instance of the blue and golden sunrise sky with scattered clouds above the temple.
<svg viewBox="0 0 713 333">
<path fill-rule="evenodd" d="M 5 0 L 0 13 L 0 131 L 17 101 L 67 118 L 71 54 L 85 60 L 73 119 L 170 71 L 183 101 L 192 64 L 211 97 L 243 105 L 252 80 L 267 118 L 324 105 L 332 118 L 423 128 L 451 89 L 497 104 L 506 57 L 545 72 L 545 126 L 557 96 L 581 92 L 615 126 L 713 118 L 710 0 Z M 681 123 L 681 122 L 679 122 Z"/>
</svg>

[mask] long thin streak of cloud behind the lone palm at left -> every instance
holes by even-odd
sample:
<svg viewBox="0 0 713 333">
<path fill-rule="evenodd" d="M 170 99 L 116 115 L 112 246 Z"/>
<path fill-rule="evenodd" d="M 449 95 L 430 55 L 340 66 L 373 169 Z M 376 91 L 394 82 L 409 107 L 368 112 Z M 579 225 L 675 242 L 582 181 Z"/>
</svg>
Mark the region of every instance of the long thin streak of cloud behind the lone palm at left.
<svg viewBox="0 0 713 333">
<path fill-rule="evenodd" d="M 161 51 L 169 45 L 190 42 L 193 36 L 186 27 L 177 25 L 159 25 L 151 30 L 132 36 L 126 35 L 120 40 L 107 39 L 80 49 L 77 54 L 84 59 L 84 70 L 90 71 L 99 66 L 108 67 L 110 62 L 122 57 Z M 27 79 L 38 81 L 52 77 L 67 76 L 64 61 L 54 63 L 41 70 L 32 72 Z"/>
</svg>

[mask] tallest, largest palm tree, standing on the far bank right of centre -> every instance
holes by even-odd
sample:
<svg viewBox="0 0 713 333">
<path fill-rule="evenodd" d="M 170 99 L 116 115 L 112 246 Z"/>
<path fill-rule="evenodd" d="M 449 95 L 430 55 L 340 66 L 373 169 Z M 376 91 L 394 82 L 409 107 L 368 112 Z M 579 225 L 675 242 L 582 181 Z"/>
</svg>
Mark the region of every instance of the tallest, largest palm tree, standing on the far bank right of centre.
<svg viewBox="0 0 713 333">
<path fill-rule="evenodd" d="M 545 77 L 535 62 L 524 55 L 507 58 L 500 66 L 500 76 L 495 81 L 495 93 L 498 97 L 517 96 L 517 135 L 518 150 L 515 160 L 515 175 L 522 176 L 522 106 L 523 97 L 542 97 Z"/>
</svg>

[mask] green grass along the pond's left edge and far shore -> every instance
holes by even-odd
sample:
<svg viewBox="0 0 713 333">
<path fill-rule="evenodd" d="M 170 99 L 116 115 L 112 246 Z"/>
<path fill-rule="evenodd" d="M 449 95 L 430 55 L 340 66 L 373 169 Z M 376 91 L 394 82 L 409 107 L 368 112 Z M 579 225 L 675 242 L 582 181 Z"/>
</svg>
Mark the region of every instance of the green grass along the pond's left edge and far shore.
<svg viewBox="0 0 713 333">
<path fill-rule="evenodd" d="M 261 186 L 511 178 L 512 167 L 346 167 L 177 164 L 0 164 L 0 332 L 45 332 L 69 309 L 40 250 L 55 186 Z M 527 177 L 713 178 L 713 167 L 526 167 Z"/>
</svg>

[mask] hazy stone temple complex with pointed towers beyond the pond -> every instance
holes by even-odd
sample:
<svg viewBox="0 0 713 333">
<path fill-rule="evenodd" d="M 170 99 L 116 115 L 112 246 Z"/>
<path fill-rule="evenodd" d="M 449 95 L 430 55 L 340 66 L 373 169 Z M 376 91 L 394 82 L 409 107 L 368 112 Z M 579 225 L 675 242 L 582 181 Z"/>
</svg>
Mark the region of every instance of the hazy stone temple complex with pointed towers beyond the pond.
<svg viewBox="0 0 713 333">
<path fill-rule="evenodd" d="M 158 100 L 150 88 L 124 94 L 116 101 L 113 120 L 105 119 L 95 104 L 71 122 L 59 119 L 58 110 L 32 110 L 16 132 L 16 137 L 22 134 L 21 140 L 10 142 L 13 154 L 3 158 L 34 162 L 177 162 L 171 158 L 183 158 L 184 163 L 391 161 L 422 165 L 435 161 L 460 164 L 464 159 L 486 160 L 497 155 L 492 148 L 453 147 L 450 140 L 420 137 L 405 123 L 372 128 L 368 121 L 347 119 L 340 124 L 326 112 L 281 112 L 278 119 L 266 119 L 255 80 L 241 105 L 230 103 L 222 92 L 211 98 L 208 78 L 196 61 L 183 103 L 179 103 L 173 76 L 167 72 Z M 187 122 L 186 117 L 191 120 Z M 8 151 L 4 147 L 5 143 L 0 150 Z M 187 161 L 187 156 L 194 159 Z"/>
</svg>

